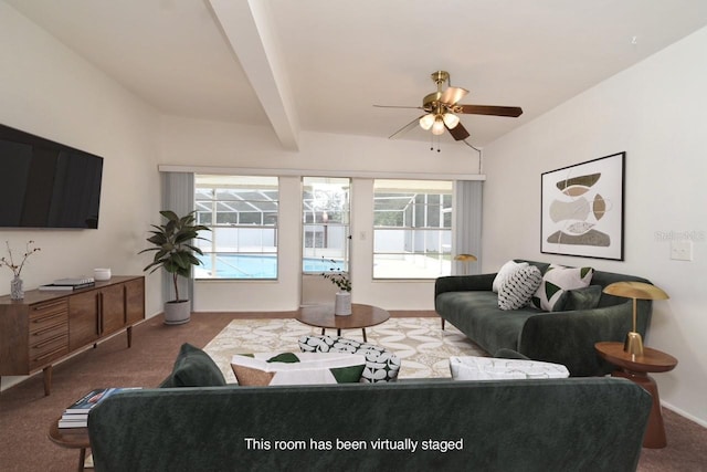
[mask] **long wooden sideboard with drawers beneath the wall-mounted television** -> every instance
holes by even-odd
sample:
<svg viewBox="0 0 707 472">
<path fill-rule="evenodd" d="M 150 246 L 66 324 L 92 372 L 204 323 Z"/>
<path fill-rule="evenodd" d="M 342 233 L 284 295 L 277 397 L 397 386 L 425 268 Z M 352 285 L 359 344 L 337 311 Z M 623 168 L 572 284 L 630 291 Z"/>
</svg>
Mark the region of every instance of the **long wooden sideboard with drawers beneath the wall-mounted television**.
<svg viewBox="0 0 707 472">
<path fill-rule="evenodd" d="M 74 291 L 0 297 L 0 376 L 44 371 L 50 395 L 52 365 L 122 329 L 133 343 L 133 325 L 145 319 L 145 277 L 113 276 Z"/>
</svg>

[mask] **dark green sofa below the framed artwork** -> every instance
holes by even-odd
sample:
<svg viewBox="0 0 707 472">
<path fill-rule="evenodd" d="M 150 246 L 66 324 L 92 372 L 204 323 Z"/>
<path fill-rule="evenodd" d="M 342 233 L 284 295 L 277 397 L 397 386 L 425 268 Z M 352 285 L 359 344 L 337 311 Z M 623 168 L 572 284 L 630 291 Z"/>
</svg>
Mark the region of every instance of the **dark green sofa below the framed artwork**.
<svg viewBox="0 0 707 472">
<path fill-rule="evenodd" d="M 545 272 L 548 263 L 528 262 Z M 436 280 L 434 306 L 444 322 L 449 321 L 484 350 L 494 355 L 499 349 L 513 349 L 524 356 L 564 365 L 571 376 L 597 376 L 611 373 L 614 367 L 594 352 L 594 343 L 623 342 L 632 329 L 633 302 L 629 298 L 601 294 L 593 310 L 541 312 L 532 307 L 503 311 L 498 296 L 492 291 L 496 274 L 453 275 Z M 594 271 L 592 285 L 620 281 L 647 280 Z M 645 337 L 651 323 L 650 301 L 637 303 L 637 331 Z"/>
</svg>

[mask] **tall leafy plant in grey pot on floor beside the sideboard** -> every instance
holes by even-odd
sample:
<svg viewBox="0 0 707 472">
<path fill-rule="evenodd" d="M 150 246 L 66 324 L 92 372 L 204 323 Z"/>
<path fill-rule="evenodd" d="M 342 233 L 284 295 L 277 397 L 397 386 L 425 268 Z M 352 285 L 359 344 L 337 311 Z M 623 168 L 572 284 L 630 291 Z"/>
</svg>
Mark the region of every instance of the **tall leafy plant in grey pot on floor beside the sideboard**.
<svg viewBox="0 0 707 472">
<path fill-rule="evenodd" d="M 167 222 L 161 225 L 152 224 L 154 230 L 151 237 L 147 239 L 152 248 L 144 249 L 139 252 L 155 251 L 152 262 L 143 271 L 150 273 L 162 268 L 172 275 L 175 286 L 175 300 L 165 304 L 165 324 L 182 324 L 189 322 L 191 316 L 191 306 L 189 300 L 179 297 L 179 276 L 189 277 L 191 275 L 192 265 L 200 265 L 201 261 L 194 256 L 194 252 L 203 255 L 201 249 L 192 245 L 194 239 L 205 239 L 199 237 L 199 231 L 211 231 L 209 228 L 194 224 L 194 212 L 190 212 L 184 217 L 178 217 L 177 213 L 169 210 L 159 212 Z"/>
</svg>

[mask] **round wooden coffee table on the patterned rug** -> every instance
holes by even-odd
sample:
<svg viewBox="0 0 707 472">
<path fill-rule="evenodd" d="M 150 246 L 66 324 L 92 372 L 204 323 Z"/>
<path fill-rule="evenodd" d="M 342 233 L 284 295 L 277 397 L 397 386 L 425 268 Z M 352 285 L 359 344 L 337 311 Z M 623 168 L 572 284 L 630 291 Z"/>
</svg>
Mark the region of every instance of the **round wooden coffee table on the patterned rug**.
<svg viewBox="0 0 707 472">
<path fill-rule="evenodd" d="M 327 328 L 336 328 L 337 336 L 341 336 L 341 329 L 361 328 L 366 343 L 366 328 L 387 322 L 390 313 L 378 306 L 351 303 L 351 314 L 339 316 L 334 314 L 334 305 L 313 305 L 299 308 L 296 318 L 306 325 L 320 327 L 321 334 Z"/>
</svg>

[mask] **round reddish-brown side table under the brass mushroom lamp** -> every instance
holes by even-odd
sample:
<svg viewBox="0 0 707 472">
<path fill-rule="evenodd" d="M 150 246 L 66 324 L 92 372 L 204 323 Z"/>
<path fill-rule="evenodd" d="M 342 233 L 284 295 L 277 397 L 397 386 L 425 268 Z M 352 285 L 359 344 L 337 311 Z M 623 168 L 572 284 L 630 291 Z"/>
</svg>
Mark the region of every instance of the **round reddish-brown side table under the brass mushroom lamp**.
<svg viewBox="0 0 707 472">
<path fill-rule="evenodd" d="M 661 412 L 661 398 L 658 397 L 658 386 L 648 373 L 666 373 L 677 366 L 677 359 L 669 354 L 650 347 L 643 348 L 643 356 L 632 358 L 631 354 L 623 350 L 623 343 L 597 343 L 594 349 L 609 363 L 618 366 L 621 370 L 614 370 L 612 377 L 623 377 L 634 381 L 653 397 L 653 407 L 648 417 L 648 427 L 643 438 L 643 447 L 659 449 L 665 448 L 665 426 L 663 424 L 663 413 Z"/>
</svg>

